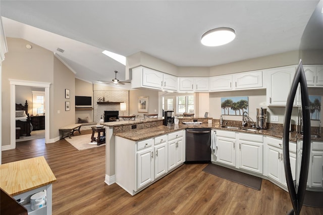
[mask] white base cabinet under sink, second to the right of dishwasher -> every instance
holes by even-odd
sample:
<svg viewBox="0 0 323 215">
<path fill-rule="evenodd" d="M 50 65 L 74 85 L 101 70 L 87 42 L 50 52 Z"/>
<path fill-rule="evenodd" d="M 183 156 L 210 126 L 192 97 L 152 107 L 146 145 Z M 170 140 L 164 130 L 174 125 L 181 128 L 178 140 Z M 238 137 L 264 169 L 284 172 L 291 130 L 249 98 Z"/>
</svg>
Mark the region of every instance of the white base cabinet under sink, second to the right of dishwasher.
<svg viewBox="0 0 323 215">
<path fill-rule="evenodd" d="M 239 133 L 238 167 L 247 171 L 262 174 L 263 138 L 262 135 Z"/>
</svg>

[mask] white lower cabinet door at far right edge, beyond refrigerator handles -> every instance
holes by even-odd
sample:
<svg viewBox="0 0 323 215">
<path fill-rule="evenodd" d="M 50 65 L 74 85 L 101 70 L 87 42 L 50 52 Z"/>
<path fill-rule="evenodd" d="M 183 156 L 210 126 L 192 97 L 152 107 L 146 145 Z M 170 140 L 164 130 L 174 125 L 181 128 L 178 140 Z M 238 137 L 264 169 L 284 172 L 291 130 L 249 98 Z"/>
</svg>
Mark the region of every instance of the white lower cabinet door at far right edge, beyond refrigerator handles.
<svg viewBox="0 0 323 215">
<path fill-rule="evenodd" d="M 311 187 L 323 187 L 323 151 L 312 151 Z"/>
</svg>

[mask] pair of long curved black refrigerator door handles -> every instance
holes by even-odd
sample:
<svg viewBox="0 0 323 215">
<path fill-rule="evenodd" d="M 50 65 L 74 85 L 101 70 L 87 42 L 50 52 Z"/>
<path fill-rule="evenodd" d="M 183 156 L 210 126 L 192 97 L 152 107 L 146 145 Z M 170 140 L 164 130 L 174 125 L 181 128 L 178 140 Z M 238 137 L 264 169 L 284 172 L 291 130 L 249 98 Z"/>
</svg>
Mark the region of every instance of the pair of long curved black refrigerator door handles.
<svg viewBox="0 0 323 215">
<path fill-rule="evenodd" d="M 289 158 L 289 124 L 291 121 L 292 108 L 294 103 L 294 98 L 296 95 L 298 83 L 300 84 L 301 90 L 301 100 L 302 100 L 302 118 L 303 118 L 303 152 L 300 168 L 299 186 L 296 192 L 294 187 L 290 158 Z M 289 195 L 292 201 L 293 209 L 289 214 L 299 214 L 303 205 L 307 175 L 309 169 L 309 156 L 310 156 L 310 112 L 309 112 L 309 99 L 308 99 L 308 89 L 305 78 L 305 73 L 303 69 L 302 60 L 299 61 L 296 73 L 294 75 L 293 83 L 289 91 L 285 117 L 284 117 L 284 129 L 283 129 L 283 153 L 284 153 L 284 167 L 286 182 L 288 186 Z"/>
</svg>

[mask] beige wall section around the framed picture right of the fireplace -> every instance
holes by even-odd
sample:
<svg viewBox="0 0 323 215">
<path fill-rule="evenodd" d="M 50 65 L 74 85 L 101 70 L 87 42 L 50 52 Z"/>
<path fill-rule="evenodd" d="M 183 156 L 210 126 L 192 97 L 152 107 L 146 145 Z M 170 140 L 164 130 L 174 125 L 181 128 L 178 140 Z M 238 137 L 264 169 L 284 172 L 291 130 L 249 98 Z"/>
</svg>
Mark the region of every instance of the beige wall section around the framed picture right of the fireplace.
<svg viewBox="0 0 323 215">
<path fill-rule="evenodd" d="M 148 113 L 158 114 L 158 91 L 149 89 L 133 89 L 129 91 L 129 114 L 143 116 L 145 113 L 138 113 L 138 97 L 148 96 Z M 156 110 L 156 111 L 155 111 Z M 161 116 L 158 116 L 161 117 Z"/>
</svg>

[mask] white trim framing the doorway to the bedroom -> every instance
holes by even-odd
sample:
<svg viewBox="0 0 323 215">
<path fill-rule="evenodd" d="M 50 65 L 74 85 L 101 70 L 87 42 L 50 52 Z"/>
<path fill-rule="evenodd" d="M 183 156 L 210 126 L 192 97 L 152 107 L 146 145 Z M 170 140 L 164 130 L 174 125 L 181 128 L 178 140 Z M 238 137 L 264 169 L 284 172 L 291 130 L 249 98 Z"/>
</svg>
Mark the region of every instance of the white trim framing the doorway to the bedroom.
<svg viewBox="0 0 323 215">
<path fill-rule="evenodd" d="M 11 149 L 16 148 L 16 87 L 18 86 L 29 86 L 36 88 L 44 88 L 45 92 L 45 143 L 49 142 L 49 86 L 50 83 L 47 82 L 35 82 L 35 81 L 25 81 L 25 80 L 10 80 L 10 105 L 11 105 L 11 128 L 10 128 L 10 146 Z"/>
</svg>

